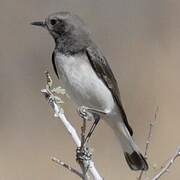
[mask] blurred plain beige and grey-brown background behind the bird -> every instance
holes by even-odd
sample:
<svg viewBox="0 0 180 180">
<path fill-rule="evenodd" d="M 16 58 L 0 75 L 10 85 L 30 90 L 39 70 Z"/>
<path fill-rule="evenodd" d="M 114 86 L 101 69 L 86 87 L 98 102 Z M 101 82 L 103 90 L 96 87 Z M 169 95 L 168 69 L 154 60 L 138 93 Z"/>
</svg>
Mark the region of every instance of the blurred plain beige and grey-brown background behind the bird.
<svg viewBox="0 0 180 180">
<path fill-rule="evenodd" d="M 144 151 L 149 121 L 159 106 L 147 175 L 152 177 L 180 144 L 179 0 L 1 0 L 0 6 L 0 180 L 79 179 L 50 157 L 78 167 L 75 145 L 41 96 L 54 42 L 29 25 L 56 11 L 71 11 L 89 25 L 119 83 L 134 139 Z M 79 128 L 70 100 L 65 112 Z M 94 161 L 108 180 L 135 180 L 106 123 L 91 140 Z M 156 166 L 157 170 L 153 170 Z M 180 160 L 162 177 L 178 180 Z"/>
</svg>

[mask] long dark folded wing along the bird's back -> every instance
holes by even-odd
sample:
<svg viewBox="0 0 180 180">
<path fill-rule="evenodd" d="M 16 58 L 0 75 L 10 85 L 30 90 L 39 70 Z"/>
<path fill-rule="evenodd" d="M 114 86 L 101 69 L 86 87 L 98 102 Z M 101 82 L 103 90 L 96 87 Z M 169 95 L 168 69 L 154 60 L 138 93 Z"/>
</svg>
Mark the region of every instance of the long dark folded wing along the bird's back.
<svg viewBox="0 0 180 180">
<path fill-rule="evenodd" d="M 102 55 L 102 53 L 97 47 L 88 47 L 86 49 L 86 54 L 97 76 L 105 83 L 105 85 L 111 91 L 113 98 L 116 101 L 121 112 L 122 119 L 127 129 L 129 130 L 129 133 L 132 136 L 133 131 L 128 123 L 126 114 L 121 103 L 118 84 L 106 58 Z"/>
</svg>

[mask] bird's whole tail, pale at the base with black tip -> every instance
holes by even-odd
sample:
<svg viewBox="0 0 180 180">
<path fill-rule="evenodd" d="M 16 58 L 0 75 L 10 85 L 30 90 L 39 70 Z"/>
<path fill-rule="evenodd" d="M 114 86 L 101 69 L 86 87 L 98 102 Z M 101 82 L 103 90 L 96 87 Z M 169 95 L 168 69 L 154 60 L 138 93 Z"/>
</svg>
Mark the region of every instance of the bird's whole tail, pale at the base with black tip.
<svg viewBox="0 0 180 180">
<path fill-rule="evenodd" d="M 113 130 L 121 143 L 124 156 L 129 167 L 134 171 L 148 170 L 148 164 L 143 155 L 140 153 L 139 148 L 134 143 L 124 122 L 119 120 L 115 121 L 113 123 Z"/>
</svg>

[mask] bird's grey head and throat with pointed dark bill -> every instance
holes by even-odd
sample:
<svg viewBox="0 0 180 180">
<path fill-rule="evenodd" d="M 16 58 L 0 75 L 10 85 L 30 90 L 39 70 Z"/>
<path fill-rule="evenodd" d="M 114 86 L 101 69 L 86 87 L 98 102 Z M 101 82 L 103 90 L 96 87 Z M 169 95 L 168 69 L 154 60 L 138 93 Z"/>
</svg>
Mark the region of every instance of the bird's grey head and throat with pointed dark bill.
<svg viewBox="0 0 180 180">
<path fill-rule="evenodd" d="M 45 21 L 31 23 L 46 28 L 56 42 L 56 49 L 63 53 L 77 53 L 90 43 L 89 31 L 84 22 L 69 12 L 49 15 Z"/>
</svg>

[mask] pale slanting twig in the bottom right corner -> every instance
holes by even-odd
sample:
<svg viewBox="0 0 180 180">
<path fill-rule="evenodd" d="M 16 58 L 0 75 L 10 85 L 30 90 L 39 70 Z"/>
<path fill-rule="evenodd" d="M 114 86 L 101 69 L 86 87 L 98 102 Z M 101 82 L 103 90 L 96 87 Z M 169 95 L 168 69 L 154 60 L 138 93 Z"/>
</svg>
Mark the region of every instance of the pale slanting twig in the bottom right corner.
<svg viewBox="0 0 180 180">
<path fill-rule="evenodd" d="M 180 156 L 180 146 L 177 147 L 177 150 L 175 152 L 175 154 L 172 156 L 172 158 L 168 161 L 168 163 L 165 165 L 164 168 L 162 168 L 162 170 L 155 175 L 152 180 L 157 180 L 159 179 L 162 175 L 164 175 L 165 173 L 167 173 L 170 169 L 170 167 L 174 164 L 176 158 L 178 158 Z"/>
</svg>

